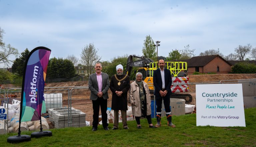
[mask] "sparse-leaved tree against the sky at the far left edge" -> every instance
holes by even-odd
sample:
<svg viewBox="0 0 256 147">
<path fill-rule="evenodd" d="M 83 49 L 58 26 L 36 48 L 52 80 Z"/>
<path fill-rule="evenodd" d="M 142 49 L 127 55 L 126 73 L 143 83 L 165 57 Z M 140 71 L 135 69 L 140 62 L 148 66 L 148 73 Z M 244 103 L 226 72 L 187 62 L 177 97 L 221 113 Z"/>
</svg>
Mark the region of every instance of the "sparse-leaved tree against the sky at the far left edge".
<svg viewBox="0 0 256 147">
<path fill-rule="evenodd" d="M 0 64 L 4 63 L 8 66 L 10 62 L 12 62 L 9 58 L 10 56 L 14 55 L 17 57 L 19 52 L 16 48 L 12 47 L 10 44 L 5 45 L 3 42 L 3 34 L 4 30 L 0 27 Z"/>
</svg>

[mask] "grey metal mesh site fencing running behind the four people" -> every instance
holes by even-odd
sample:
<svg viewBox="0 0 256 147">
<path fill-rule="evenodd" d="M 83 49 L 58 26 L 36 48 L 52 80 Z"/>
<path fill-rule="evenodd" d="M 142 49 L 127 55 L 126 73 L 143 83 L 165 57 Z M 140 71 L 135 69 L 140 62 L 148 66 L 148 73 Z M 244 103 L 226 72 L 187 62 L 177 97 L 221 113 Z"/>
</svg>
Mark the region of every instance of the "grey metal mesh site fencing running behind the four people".
<svg viewBox="0 0 256 147">
<path fill-rule="evenodd" d="M 214 82 L 214 84 L 225 83 L 242 83 L 243 87 L 243 99 L 245 108 L 256 107 L 256 79 L 247 80 L 222 80 Z M 206 83 L 190 83 L 190 92 L 174 93 L 172 99 L 185 100 L 185 113 L 191 113 L 196 107 L 196 84 L 213 84 L 212 82 Z M 151 89 L 151 88 L 150 88 Z M 19 116 L 21 100 L 20 94 L 21 88 L 12 88 L 9 90 L 0 89 L 0 102 L 1 107 L 8 108 L 8 120 L 0 120 L 0 133 L 15 132 L 17 131 L 16 121 Z M 64 128 L 64 127 L 83 127 L 92 124 L 92 101 L 90 100 L 90 90 L 88 86 L 82 87 L 45 87 L 45 104 L 47 113 L 42 114 L 44 119 L 45 128 Z M 109 90 L 109 99 L 107 100 L 107 114 L 108 122 L 113 123 L 114 112 L 111 110 L 112 92 Z M 156 116 L 156 103 L 154 91 L 150 90 L 151 97 L 151 117 Z M 131 104 L 129 103 L 129 96 L 127 96 L 128 111 L 127 120 L 134 120 L 131 110 Z M 180 103 L 180 102 L 178 102 Z M 177 104 L 177 103 L 176 103 Z M 172 105 L 175 105 L 172 104 Z M 174 107 L 171 105 L 171 108 Z M 177 104 L 177 107 L 178 104 Z M 173 108 L 174 109 L 174 108 Z M 184 109 L 184 108 L 183 108 Z M 174 110 L 171 110 L 172 113 Z M 101 115 L 101 110 L 99 112 Z M 164 115 L 163 115 L 164 116 Z M 101 119 L 99 119 L 101 121 Z M 119 122 L 121 122 L 121 114 L 119 116 Z M 47 123 L 47 124 L 46 124 Z M 101 124 L 101 122 L 99 122 Z M 48 126 L 47 126 L 48 125 Z M 38 122 L 22 122 L 23 130 L 35 130 L 38 128 Z"/>
</svg>

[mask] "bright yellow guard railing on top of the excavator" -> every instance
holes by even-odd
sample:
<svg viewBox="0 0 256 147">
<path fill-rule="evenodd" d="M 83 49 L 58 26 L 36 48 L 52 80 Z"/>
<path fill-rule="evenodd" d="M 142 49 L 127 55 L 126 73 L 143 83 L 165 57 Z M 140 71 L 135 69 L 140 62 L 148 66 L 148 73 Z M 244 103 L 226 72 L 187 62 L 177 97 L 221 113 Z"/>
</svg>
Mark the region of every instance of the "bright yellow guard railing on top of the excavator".
<svg viewBox="0 0 256 147">
<path fill-rule="evenodd" d="M 153 62 L 149 64 L 150 77 L 153 76 L 153 70 L 156 70 L 158 67 L 158 62 Z M 174 77 L 177 77 L 180 71 L 187 70 L 187 62 L 165 62 L 167 69 L 171 71 Z M 145 81 L 145 80 L 144 80 Z M 146 82 L 146 81 L 145 81 Z"/>
</svg>

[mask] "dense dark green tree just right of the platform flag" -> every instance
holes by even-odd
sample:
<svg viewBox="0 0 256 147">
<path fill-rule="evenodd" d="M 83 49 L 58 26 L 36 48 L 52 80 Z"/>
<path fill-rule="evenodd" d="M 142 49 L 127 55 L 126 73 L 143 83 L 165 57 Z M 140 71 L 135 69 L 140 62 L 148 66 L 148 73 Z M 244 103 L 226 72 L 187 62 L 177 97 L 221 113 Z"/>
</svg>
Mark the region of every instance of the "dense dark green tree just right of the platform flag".
<svg viewBox="0 0 256 147">
<path fill-rule="evenodd" d="M 47 77 L 48 78 L 73 78 L 76 74 L 74 64 L 63 58 L 51 58 L 48 62 Z"/>
</svg>

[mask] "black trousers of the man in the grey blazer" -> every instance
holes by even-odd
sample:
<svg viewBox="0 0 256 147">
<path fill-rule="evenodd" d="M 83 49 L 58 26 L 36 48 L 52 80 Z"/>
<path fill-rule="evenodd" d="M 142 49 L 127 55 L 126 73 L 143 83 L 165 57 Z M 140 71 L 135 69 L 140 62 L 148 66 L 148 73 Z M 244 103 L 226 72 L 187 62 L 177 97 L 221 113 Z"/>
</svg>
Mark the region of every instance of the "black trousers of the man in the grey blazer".
<svg viewBox="0 0 256 147">
<path fill-rule="evenodd" d="M 103 98 L 99 98 L 99 97 L 97 100 L 92 100 L 92 108 L 93 108 L 92 127 L 98 128 L 100 109 L 101 109 L 101 117 L 102 117 L 102 126 L 104 128 L 107 127 L 108 126 L 107 100 L 104 100 Z"/>
</svg>

